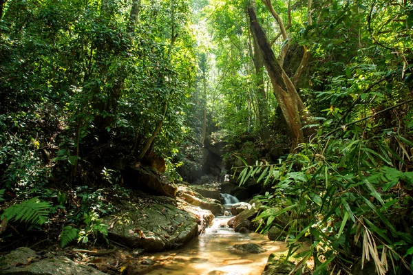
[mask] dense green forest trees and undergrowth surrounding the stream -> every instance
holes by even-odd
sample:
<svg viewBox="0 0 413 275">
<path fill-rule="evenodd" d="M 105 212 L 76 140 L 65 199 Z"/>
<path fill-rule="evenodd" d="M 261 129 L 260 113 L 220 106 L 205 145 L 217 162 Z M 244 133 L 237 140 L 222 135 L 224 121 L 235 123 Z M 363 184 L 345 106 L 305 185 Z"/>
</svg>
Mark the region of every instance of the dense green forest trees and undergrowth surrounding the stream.
<svg viewBox="0 0 413 275">
<path fill-rule="evenodd" d="M 127 169 L 224 141 L 303 267 L 412 272 L 412 49 L 405 0 L 0 1 L 1 242 L 105 243 Z"/>
</svg>

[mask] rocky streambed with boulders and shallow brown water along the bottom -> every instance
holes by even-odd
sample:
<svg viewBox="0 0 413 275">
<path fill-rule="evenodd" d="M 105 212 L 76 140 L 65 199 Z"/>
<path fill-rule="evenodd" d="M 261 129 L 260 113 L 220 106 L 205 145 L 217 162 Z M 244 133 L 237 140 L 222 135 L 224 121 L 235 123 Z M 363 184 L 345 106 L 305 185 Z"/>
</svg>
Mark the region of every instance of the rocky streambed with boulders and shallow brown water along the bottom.
<svg viewBox="0 0 413 275">
<path fill-rule="evenodd" d="M 142 193 L 118 201 L 118 211 L 103 217 L 114 248 L 19 248 L 0 258 L 0 274 L 283 274 L 268 273 L 266 263 L 285 243 L 250 232 L 259 203 L 225 210 L 200 194 L 216 196 L 213 188 L 176 188 L 175 199 Z"/>
</svg>

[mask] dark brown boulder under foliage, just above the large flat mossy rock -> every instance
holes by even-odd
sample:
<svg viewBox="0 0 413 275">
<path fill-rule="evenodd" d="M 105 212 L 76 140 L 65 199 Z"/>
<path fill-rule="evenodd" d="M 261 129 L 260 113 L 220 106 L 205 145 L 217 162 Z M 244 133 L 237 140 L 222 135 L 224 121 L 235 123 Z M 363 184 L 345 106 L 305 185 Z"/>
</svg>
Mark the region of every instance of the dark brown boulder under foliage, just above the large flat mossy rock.
<svg viewBox="0 0 413 275">
<path fill-rule="evenodd" d="M 178 187 L 156 168 L 135 166 L 125 170 L 125 184 L 135 190 L 154 192 L 157 195 L 176 197 Z"/>
</svg>

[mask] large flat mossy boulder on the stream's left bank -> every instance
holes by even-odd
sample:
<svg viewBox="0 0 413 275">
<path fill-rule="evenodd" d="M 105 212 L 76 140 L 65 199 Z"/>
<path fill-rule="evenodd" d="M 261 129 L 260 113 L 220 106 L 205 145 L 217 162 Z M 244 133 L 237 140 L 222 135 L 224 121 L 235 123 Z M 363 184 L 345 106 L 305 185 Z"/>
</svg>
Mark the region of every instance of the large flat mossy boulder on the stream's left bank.
<svg viewBox="0 0 413 275">
<path fill-rule="evenodd" d="M 129 248 L 144 248 L 149 252 L 179 248 L 198 236 L 206 226 L 195 214 L 166 203 L 140 209 L 124 202 L 123 208 L 103 220 L 109 224 L 109 239 Z"/>
</svg>

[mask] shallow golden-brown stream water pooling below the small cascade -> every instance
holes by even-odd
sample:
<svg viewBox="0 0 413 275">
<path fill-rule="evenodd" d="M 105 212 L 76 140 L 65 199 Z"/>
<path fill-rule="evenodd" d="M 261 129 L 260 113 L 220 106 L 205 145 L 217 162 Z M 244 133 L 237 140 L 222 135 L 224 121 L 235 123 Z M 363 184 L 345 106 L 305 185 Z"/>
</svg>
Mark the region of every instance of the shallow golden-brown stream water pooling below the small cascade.
<svg viewBox="0 0 413 275">
<path fill-rule="evenodd" d="M 146 274 L 204 275 L 204 274 L 261 274 L 269 254 L 285 252 L 286 243 L 270 241 L 257 233 L 235 233 L 232 228 L 220 228 L 231 217 L 215 217 L 211 228 L 184 248 L 145 257 L 155 262 Z M 233 248 L 237 243 L 256 243 L 266 248 L 261 254 L 240 252 Z"/>
</svg>

